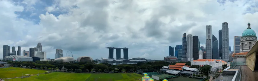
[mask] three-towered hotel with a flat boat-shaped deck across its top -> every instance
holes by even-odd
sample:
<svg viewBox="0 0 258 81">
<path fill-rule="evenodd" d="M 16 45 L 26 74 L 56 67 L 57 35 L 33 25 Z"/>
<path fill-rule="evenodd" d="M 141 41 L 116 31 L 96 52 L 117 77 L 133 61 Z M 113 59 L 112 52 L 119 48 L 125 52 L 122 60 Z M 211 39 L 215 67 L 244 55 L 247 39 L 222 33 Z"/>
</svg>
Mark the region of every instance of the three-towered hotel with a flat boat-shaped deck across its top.
<svg viewBox="0 0 258 81">
<path fill-rule="evenodd" d="M 121 49 L 124 50 L 124 59 L 128 60 L 128 48 L 115 48 L 115 47 L 106 47 L 109 49 L 109 59 L 114 59 L 114 49 L 116 49 L 115 59 L 121 58 Z"/>
</svg>

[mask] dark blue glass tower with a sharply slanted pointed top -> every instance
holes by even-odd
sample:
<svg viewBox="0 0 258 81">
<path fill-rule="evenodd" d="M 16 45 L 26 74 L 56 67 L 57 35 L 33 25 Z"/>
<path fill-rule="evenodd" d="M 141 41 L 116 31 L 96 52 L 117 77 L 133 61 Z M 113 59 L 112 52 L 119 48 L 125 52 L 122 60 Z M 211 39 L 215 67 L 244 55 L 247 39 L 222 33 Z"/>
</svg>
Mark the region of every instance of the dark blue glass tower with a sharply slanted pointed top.
<svg viewBox="0 0 258 81">
<path fill-rule="evenodd" d="M 212 34 L 212 59 L 219 58 L 218 39 Z"/>
</svg>

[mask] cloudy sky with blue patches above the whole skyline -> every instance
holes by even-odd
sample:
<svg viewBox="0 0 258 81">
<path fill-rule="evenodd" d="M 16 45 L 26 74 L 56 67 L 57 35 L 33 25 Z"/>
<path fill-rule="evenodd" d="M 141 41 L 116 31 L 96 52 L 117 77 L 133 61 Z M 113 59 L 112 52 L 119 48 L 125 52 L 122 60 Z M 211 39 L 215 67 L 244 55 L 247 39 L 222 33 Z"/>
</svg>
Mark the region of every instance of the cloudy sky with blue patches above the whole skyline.
<svg viewBox="0 0 258 81">
<path fill-rule="evenodd" d="M 162 60 L 168 46 L 181 45 L 183 33 L 198 36 L 205 46 L 205 26 L 212 25 L 218 39 L 223 22 L 229 24 L 233 50 L 233 36 L 241 36 L 248 21 L 257 32 L 257 4 L 257 0 L 0 0 L 0 58 L 2 45 L 29 51 L 41 42 L 52 59 L 55 48 L 63 49 L 64 56 L 72 51 L 74 58 L 108 58 L 105 47 L 112 46 L 129 48 L 129 58 Z"/>
</svg>

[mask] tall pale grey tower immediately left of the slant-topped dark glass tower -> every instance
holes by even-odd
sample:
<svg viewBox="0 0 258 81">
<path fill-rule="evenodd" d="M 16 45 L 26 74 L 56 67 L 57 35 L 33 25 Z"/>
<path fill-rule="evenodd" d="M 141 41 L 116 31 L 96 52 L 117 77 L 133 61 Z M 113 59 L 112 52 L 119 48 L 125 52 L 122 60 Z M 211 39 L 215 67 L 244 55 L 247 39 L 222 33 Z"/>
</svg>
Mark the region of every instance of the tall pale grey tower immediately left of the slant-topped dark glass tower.
<svg viewBox="0 0 258 81">
<path fill-rule="evenodd" d="M 205 48 L 206 48 L 206 59 L 212 59 L 212 43 L 211 43 L 211 35 L 212 35 L 212 27 L 211 25 L 206 26 L 206 43 L 205 43 Z"/>
</svg>

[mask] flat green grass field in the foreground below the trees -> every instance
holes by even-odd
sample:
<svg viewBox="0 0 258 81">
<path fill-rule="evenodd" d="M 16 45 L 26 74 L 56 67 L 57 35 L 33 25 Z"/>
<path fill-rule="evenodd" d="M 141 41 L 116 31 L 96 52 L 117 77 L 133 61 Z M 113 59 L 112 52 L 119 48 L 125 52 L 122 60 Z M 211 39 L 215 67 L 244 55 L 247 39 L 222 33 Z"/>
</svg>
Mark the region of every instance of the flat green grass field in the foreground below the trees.
<svg viewBox="0 0 258 81">
<path fill-rule="evenodd" d="M 11 78 L 23 74 L 44 73 L 45 70 L 9 67 L 0 69 L 0 78 Z M 136 73 L 64 73 L 54 72 L 27 78 L 4 79 L 5 81 L 139 81 L 143 77 Z"/>
</svg>

